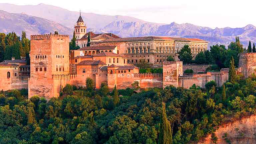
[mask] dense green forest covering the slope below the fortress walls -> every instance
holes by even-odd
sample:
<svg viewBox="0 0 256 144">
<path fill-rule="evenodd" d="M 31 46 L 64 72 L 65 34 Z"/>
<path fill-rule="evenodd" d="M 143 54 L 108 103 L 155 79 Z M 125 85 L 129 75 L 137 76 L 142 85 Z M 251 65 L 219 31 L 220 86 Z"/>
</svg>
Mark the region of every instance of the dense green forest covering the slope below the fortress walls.
<svg viewBox="0 0 256 144">
<path fill-rule="evenodd" d="M 256 76 L 235 75 L 231 60 L 229 82 L 207 89 L 168 86 L 109 92 L 66 85 L 59 98 L 34 96 L 26 90 L 0 94 L 2 144 L 186 144 L 213 134 L 231 118 L 255 114 Z M 134 90 L 139 90 L 134 93 Z M 228 141 L 228 139 L 227 139 Z"/>
</svg>

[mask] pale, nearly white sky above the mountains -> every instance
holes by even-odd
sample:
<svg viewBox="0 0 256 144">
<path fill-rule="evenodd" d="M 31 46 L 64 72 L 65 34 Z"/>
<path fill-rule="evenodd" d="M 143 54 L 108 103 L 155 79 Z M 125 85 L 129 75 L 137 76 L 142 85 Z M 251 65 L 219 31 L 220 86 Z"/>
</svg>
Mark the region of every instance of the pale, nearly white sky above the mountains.
<svg viewBox="0 0 256 144">
<path fill-rule="evenodd" d="M 254 0 L 1 0 L 58 6 L 70 11 L 124 15 L 155 23 L 191 23 L 211 28 L 256 26 Z"/>
</svg>

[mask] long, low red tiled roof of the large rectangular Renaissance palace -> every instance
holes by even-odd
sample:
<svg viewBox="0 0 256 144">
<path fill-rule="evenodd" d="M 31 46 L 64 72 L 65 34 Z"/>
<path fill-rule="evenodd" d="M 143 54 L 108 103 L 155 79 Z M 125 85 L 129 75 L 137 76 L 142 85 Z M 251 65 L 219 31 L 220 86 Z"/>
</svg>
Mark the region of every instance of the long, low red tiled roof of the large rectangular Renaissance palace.
<svg viewBox="0 0 256 144">
<path fill-rule="evenodd" d="M 201 39 L 193 39 L 193 38 L 174 38 L 174 37 L 160 37 L 160 36 L 148 36 L 148 37 L 128 37 L 128 38 L 115 38 L 115 39 L 106 39 L 100 42 L 123 42 L 123 41 L 148 41 L 148 40 L 174 40 L 174 41 L 201 41 L 206 42 Z M 93 42 L 92 42 L 93 43 Z M 97 43 L 97 42 L 95 42 Z"/>
</svg>

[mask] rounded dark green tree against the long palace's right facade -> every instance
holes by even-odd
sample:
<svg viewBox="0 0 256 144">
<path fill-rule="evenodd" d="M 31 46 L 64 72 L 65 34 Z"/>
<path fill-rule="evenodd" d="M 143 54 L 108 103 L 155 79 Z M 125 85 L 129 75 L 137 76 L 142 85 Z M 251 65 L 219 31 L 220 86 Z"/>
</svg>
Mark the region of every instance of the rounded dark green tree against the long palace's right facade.
<svg viewBox="0 0 256 144">
<path fill-rule="evenodd" d="M 192 53 L 191 49 L 189 48 L 188 45 L 185 45 L 179 52 L 178 58 L 180 61 L 183 62 L 183 64 L 189 64 L 192 61 Z"/>
</svg>

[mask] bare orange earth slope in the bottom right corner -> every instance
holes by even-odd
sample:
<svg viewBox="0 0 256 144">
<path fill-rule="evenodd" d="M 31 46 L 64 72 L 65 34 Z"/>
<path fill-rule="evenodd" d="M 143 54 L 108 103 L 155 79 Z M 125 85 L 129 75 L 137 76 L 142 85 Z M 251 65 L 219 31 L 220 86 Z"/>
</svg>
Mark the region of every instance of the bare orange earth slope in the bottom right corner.
<svg viewBox="0 0 256 144">
<path fill-rule="evenodd" d="M 220 125 L 215 134 L 218 137 L 217 144 L 255 144 L 256 115 Z M 213 144 L 211 135 L 208 135 L 198 144 Z"/>
</svg>

